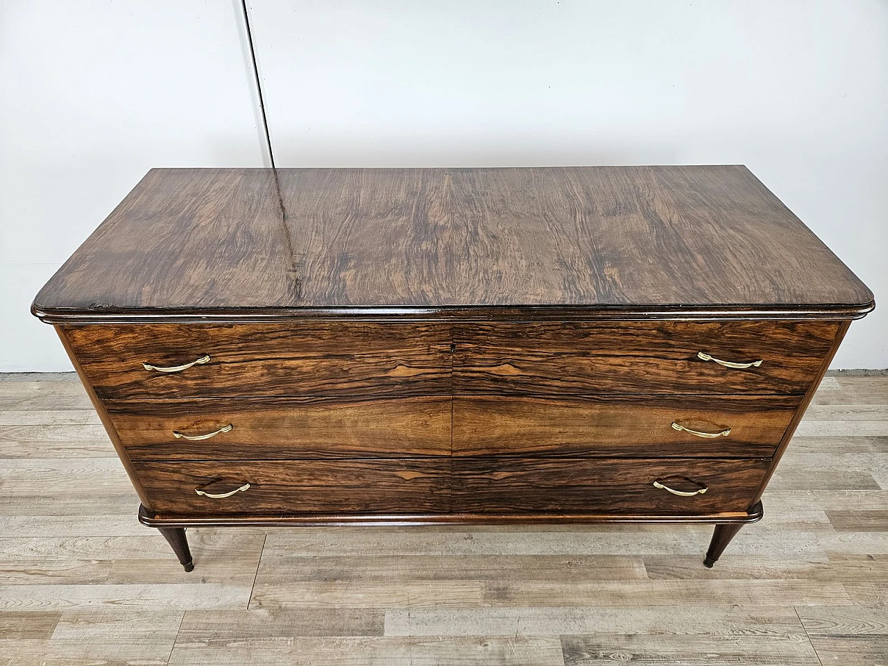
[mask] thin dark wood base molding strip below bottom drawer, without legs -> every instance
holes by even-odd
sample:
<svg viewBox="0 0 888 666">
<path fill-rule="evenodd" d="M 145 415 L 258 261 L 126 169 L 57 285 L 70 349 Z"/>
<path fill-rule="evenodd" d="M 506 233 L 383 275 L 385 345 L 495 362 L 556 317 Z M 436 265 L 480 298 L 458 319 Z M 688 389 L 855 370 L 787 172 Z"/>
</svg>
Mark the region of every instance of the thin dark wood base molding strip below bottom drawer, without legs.
<svg viewBox="0 0 888 666">
<path fill-rule="evenodd" d="M 188 516 L 166 515 L 139 507 L 139 522 L 147 527 L 347 527 L 349 525 L 368 526 L 412 526 L 412 525 L 455 525 L 455 524 L 521 524 L 521 523 L 696 523 L 719 525 L 722 523 L 754 523 L 762 518 L 761 503 L 750 507 L 747 513 L 717 513 L 703 516 L 641 516 L 614 514 L 365 514 L 365 515 L 223 515 Z"/>
</svg>

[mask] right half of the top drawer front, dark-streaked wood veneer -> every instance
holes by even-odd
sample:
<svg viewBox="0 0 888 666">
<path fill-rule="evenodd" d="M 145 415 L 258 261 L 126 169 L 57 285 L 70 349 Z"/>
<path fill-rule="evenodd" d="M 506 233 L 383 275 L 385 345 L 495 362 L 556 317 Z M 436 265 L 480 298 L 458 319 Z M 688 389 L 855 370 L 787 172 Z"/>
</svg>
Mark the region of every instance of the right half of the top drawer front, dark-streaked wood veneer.
<svg viewBox="0 0 888 666">
<path fill-rule="evenodd" d="M 804 393 L 833 321 L 458 323 L 457 393 Z M 706 361 L 749 363 L 728 368 Z"/>
</svg>

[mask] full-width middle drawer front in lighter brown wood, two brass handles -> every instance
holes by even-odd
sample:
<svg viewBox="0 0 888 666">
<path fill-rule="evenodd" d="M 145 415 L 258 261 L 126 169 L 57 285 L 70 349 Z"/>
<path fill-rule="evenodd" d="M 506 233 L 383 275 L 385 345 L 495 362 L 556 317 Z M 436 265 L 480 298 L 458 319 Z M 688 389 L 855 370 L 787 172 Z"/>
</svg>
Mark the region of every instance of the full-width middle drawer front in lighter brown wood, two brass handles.
<svg viewBox="0 0 888 666">
<path fill-rule="evenodd" d="M 793 396 L 109 400 L 133 460 L 773 456 Z"/>
</svg>

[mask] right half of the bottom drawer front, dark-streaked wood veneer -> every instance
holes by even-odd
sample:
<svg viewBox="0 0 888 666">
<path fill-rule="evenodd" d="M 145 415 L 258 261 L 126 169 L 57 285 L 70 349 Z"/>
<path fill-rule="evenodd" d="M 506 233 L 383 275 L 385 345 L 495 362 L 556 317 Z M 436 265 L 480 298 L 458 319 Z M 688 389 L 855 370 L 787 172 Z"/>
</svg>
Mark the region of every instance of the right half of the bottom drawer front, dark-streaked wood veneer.
<svg viewBox="0 0 888 666">
<path fill-rule="evenodd" d="M 637 516 L 746 511 L 765 459 L 455 458 L 453 511 Z M 676 496 L 654 481 L 678 492 Z"/>
</svg>

